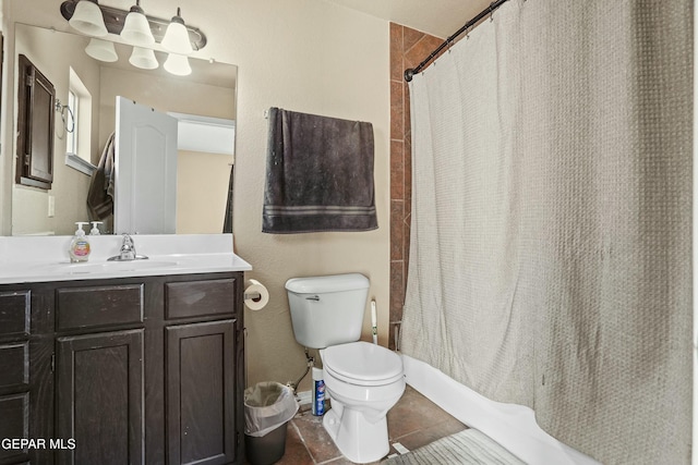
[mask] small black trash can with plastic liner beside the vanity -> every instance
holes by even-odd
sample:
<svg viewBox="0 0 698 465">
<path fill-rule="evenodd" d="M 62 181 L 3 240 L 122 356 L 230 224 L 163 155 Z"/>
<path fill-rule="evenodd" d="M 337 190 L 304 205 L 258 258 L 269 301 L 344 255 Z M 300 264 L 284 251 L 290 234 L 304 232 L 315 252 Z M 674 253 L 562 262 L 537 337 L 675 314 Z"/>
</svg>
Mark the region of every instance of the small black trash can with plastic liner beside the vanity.
<svg viewBox="0 0 698 465">
<path fill-rule="evenodd" d="M 258 382 L 244 391 L 244 445 L 252 465 L 270 465 L 286 452 L 286 428 L 298 412 L 290 388 Z"/>
</svg>

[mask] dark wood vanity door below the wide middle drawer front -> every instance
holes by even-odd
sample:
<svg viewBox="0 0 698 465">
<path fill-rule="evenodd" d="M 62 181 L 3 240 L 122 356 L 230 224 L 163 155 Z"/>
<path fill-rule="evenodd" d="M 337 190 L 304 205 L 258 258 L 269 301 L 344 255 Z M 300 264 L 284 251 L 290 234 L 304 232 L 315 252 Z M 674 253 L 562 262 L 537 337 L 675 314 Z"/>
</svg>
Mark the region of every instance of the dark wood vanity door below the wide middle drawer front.
<svg viewBox="0 0 698 465">
<path fill-rule="evenodd" d="M 58 463 L 144 463 L 143 330 L 58 338 L 57 351 Z"/>
</svg>

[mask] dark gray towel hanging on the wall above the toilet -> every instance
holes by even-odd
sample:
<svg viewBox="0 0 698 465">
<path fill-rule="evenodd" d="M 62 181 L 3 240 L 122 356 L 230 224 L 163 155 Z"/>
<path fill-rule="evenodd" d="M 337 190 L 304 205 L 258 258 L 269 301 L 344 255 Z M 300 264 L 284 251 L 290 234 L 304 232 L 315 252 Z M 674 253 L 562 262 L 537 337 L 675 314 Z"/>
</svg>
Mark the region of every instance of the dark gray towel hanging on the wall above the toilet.
<svg viewBox="0 0 698 465">
<path fill-rule="evenodd" d="M 269 109 L 262 231 L 377 228 L 371 123 Z"/>
</svg>

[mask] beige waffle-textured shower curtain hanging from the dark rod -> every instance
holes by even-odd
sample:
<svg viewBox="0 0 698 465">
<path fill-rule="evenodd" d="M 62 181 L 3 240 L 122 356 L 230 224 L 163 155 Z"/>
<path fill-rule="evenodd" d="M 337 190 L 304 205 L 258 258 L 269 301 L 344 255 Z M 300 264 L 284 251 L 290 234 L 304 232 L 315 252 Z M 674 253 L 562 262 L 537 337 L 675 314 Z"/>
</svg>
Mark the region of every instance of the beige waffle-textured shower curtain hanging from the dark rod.
<svg viewBox="0 0 698 465">
<path fill-rule="evenodd" d="M 410 83 L 402 351 L 604 464 L 690 461 L 691 21 L 510 0 Z"/>
</svg>

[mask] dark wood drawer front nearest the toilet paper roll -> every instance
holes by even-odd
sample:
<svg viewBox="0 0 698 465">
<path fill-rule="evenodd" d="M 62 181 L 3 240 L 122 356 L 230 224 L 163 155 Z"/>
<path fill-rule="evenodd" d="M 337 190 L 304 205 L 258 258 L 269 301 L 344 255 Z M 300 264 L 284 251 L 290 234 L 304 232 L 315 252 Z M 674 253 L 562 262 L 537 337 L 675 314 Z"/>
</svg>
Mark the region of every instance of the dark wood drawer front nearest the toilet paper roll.
<svg viewBox="0 0 698 465">
<path fill-rule="evenodd" d="M 165 284 L 165 317 L 173 319 L 231 315 L 234 313 L 234 298 L 233 278 L 169 282 Z"/>
</svg>

